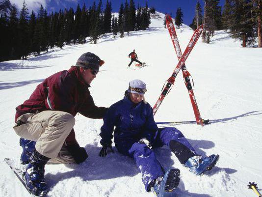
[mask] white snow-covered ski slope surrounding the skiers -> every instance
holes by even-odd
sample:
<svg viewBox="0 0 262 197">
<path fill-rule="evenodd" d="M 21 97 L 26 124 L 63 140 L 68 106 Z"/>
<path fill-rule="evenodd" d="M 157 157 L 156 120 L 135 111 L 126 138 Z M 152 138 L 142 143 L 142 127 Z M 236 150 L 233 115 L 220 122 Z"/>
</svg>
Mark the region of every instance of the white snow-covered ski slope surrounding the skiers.
<svg viewBox="0 0 262 197">
<path fill-rule="evenodd" d="M 15 107 L 25 101 L 37 84 L 51 74 L 69 69 L 85 52 L 105 60 L 101 72 L 91 84 L 91 94 L 98 106 L 110 106 L 123 98 L 128 82 L 146 82 L 147 101 L 154 106 L 162 85 L 178 60 L 169 33 L 163 28 L 163 14 L 152 17 L 146 31 L 131 32 L 116 39 L 111 34 L 98 44 L 66 46 L 28 60 L 0 63 L 0 197 L 29 197 L 23 185 L 3 159 L 19 161 L 19 137 L 12 129 Z M 177 30 L 182 50 L 193 31 L 183 26 Z M 208 175 L 196 177 L 185 169 L 167 148 L 156 150 L 165 169 L 181 169 L 178 197 L 251 197 L 249 181 L 262 188 L 262 49 L 240 48 L 240 43 L 218 31 L 210 44 L 197 43 L 186 61 L 195 84 L 200 113 L 210 125 L 174 125 L 183 132 L 201 155 L 219 154 L 217 166 Z M 136 49 L 141 61 L 150 66 L 127 69 L 128 54 Z M 181 73 L 166 96 L 156 121 L 194 120 L 191 103 Z M 98 156 L 100 127 L 103 120 L 76 116 L 79 144 L 88 152 L 81 165 L 46 166 L 49 197 L 154 197 L 146 193 L 141 175 L 131 158 L 115 154 Z M 169 125 L 170 126 L 170 125 Z"/>
</svg>

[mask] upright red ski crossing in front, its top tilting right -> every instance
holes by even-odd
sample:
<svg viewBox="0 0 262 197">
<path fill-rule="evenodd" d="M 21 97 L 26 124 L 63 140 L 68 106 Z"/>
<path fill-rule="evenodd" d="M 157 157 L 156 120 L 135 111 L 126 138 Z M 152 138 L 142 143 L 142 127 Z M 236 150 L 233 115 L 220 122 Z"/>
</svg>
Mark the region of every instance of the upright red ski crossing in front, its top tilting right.
<svg viewBox="0 0 262 197">
<path fill-rule="evenodd" d="M 172 73 L 171 77 L 165 82 L 162 92 L 159 96 L 159 98 L 157 99 L 157 102 L 153 108 L 153 114 L 155 115 L 155 113 L 157 112 L 159 106 L 161 105 L 162 101 L 164 100 L 165 96 L 168 94 L 168 92 L 171 90 L 171 88 L 173 87 L 174 83 L 175 83 L 175 79 L 180 71 L 180 69 L 182 68 L 182 66 L 184 65 L 185 60 L 187 59 L 187 57 L 189 56 L 189 54 L 191 53 L 192 49 L 194 48 L 196 42 L 198 41 L 201 33 L 203 31 L 203 25 L 199 26 L 195 31 L 193 36 L 191 37 L 183 55 L 181 56 L 174 72 Z"/>
</svg>

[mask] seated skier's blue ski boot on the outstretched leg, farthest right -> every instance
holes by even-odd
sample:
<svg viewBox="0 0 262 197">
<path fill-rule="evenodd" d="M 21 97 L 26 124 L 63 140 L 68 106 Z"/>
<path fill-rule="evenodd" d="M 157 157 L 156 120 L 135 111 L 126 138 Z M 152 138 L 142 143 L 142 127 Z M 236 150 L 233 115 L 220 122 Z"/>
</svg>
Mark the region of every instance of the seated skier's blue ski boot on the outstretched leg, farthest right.
<svg viewBox="0 0 262 197">
<path fill-rule="evenodd" d="M 209 157 L 193 156 L 184 164 L 189 171 L 196 175 L 203 175 L 205 171 L 212 169 L 219 159 L 219 155 L 210 155 Z"/>
</svg>

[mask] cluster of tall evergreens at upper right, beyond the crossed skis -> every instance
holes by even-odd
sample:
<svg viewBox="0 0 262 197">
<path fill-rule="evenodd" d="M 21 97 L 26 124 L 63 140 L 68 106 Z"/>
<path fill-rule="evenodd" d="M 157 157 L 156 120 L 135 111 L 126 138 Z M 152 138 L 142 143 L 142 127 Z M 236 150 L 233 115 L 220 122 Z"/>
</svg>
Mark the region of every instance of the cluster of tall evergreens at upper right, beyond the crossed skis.
<svg viewBox="0 0 262 197">
<path fill-rule="evenodd" d="M 209 43 L 215 30 L 228 30 L 231 37 L 241 40 L 242 47 L 262 47 L 262 0 L 226 0 L 223 10 L 220 0 L 204 0 L 204 14 L 198 1 L 190 25 L 196 29 L 204 24 L 203 42 Z"/>
</svg>

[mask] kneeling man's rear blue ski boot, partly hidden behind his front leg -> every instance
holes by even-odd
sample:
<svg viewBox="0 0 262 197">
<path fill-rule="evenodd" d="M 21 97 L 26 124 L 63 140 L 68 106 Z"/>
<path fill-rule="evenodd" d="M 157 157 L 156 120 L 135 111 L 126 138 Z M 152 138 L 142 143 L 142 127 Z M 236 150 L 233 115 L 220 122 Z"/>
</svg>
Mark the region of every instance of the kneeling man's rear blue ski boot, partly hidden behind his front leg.
<svg viewBox="0 0 262 197">
<path fill-rule="evenodd" d="M 20 138 L 19 144 L 23 148 L 23 152 L 20 157 L 21 164 L 28 164 L 29 157 L 32 155 L 33 150 L 35 149 L 35 141 L 26 140 L 24 138 Z"/>
</svg>

